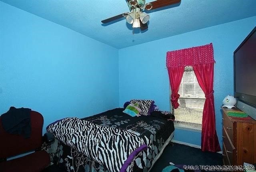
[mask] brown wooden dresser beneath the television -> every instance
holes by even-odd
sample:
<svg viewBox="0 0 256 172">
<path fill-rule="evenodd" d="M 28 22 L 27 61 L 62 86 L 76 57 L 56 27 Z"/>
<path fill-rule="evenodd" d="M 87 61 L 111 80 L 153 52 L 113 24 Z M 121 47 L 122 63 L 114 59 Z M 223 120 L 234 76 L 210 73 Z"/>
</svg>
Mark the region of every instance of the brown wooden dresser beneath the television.
<svg viewBox="0 0 256 172">
<path fill-rule="evenodd" d="M 222 107 L 222 138 L 224 165 L 243 165 L 256 163 L 256 121 L 252 118 L 240 120 L 227 115 L 228 109 Z"/>
</svg>

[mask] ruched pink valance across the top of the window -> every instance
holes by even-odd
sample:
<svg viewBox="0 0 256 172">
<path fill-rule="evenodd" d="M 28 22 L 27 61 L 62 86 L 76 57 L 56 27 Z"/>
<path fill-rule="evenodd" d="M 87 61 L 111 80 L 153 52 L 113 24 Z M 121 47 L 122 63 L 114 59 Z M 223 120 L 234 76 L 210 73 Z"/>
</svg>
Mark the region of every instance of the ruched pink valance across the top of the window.
<svg viewBox="0 0 256 172">
<path fill-rule="evenodd" d="M 166 67 L 170 68 L 208 63 L 215 63 L 212 43 L 166 53 Z"/>
</svg>

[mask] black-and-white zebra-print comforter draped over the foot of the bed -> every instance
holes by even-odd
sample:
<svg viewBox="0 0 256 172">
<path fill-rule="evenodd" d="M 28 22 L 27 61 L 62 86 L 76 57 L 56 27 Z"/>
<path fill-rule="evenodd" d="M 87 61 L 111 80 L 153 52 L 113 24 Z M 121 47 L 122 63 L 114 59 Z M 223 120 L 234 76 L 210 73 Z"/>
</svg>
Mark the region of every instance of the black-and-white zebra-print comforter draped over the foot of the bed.
<svg viewBox="0 0 256 172">
<path fill-rule="evenodd" d="M 84 153 L 111 172 L 130 172 L 124 162 L 138 148 L 147 148 L 146 140 L 129 130 L 103 127 L 78 118 L 65 118 L 50 124 L 47 131 L 66 145 Z M 132 157 L 133 158 L 133 157 Z M 122 170 L 121 170 L 122 168 Z"/>
</svg>

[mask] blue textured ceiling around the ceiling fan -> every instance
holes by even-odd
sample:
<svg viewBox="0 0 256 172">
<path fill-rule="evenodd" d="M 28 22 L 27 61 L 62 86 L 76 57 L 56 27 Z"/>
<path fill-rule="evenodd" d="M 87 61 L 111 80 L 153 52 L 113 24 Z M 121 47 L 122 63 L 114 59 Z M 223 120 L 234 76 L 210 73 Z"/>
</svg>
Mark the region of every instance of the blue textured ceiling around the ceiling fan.
<svg viewBox="0 0 256 172">
<path fill-rule="evenodd" d="M 150 12 L 148 30 L 136 29 L 132 35 L 126 20 L 106 26 L 100 22 L 128 12 L 126 0 L 1 1 L 118 49 L 256 16 L 256 0 L 181 0 L 178 5 Z"/>
</svg>

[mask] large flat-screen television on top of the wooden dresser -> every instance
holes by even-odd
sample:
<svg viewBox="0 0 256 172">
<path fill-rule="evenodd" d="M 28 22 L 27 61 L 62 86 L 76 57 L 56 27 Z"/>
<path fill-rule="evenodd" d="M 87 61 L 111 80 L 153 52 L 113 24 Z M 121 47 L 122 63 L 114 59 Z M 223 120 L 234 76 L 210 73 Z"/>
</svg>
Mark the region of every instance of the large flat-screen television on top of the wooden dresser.
<svg viewBox="0 0 256 172">
<path fill-rule="evenodd" d="M 236 99 L 256 107 L 256 27 L 234 51 Z"/>
</svg>

